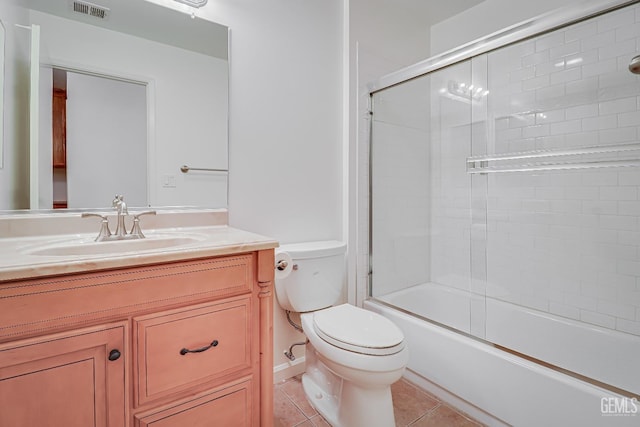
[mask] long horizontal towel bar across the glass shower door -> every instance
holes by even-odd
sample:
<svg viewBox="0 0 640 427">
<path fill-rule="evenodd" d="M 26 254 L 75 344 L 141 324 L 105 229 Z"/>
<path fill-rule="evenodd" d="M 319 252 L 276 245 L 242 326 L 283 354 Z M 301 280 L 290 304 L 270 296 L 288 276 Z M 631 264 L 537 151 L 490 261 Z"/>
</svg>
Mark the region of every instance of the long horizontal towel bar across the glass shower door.
<svg viewBox="0 0 640 427">
<path fill-rule="evenodd" d="M 640 143 L 467 157 L 467 173 L 532 172 L 640 166 Z"/>
</svg>

